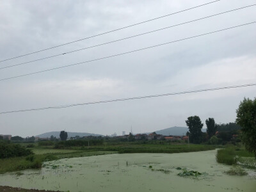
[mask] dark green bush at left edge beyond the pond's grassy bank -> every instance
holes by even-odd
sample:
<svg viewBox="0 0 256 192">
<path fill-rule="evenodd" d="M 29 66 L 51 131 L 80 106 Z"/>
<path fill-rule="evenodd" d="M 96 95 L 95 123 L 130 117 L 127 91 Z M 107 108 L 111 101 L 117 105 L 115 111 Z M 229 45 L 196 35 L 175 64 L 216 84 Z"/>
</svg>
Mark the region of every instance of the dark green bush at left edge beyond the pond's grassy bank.
<svg viewBox="0 0 256 192">
<path fill-rule="evenodd" d="M 28 148 L 24 148 L 19 144 L 1 142 L 0 143 L 0 159 L 9 157 L 28 156 L 33 154 Z"/>
</svg>

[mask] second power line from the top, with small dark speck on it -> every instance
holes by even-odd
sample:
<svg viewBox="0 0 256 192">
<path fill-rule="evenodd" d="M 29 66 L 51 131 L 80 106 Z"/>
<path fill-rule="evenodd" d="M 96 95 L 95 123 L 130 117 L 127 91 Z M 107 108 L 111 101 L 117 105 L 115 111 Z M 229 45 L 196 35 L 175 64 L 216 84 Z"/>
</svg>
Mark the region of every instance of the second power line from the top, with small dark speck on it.
<svg viewBox="0 0 256 192">
<path fill-rule="evenodd" d="M 82 48 L 82 49 L 76 49 L 76 50 L 74 50 L 74 51 L 68 51 L 68 52 L 64 52 L 64 53 L 61 53 L 61 54 L 55 54 L 55 55 L 52 55 L 52 56 L 47 56 L 47 57 L 45 57 L 45 58 L 39 58 L 39 59 L 32 60 L 32 61 L 26 61 L 26 62 L 24 62 L 24 63 L 18 63 L 18 64 L 15 64 L 15 65 L 9 65 L 9 66 L 6 66 L 6 67 L 1 67 L 0 70 L 1 70 L 1 69 L 4 69 L 4 68 L 10 68 L 10 67 L 15 67 L 15 66 L 19 66 L 19 65 L 25 65 L 25 64 L 28 64 L 28 63 L 33 63 L 33 62 L 35 62 L 35 61 L 42 61 L 42 60 L 46 60 L 46 59 L 49 59 L 49 58 L 54 58 L 54 57 L 56 57 L 56 56 L 63 56 L 64 54 L 70 54 L 70 53 L 72 53 L 72 52 L 82 51 L 82 50 L 84 50 L 84 49 L 91 49 L 91 48 L 93 48 L 93 47 L 99 47 L 99 46 L 101 46 L 101 45 L 112 44 L 112 43 L 114 43 L 114 42 L 119 42 L 119 41 L 122 41 L 122 40 L 127 40 L 127 39 L 129 39 L 129 38 L 134 38 L 134 37 L 136 37 L 136 36 L 147 35 L 147 34 L 149 34 L 149 33 L 154 33 L 154 32 L 157 32 L 157 31 L 164 30 L 164 29 L 169 29 L 169 28 L 173 28 L 173 27 L 176 27 L 176 26 L 181 26 L 181 25 L 183 25 L 183 24 L 188 24 L 188 23 L 191 23 L 191 22 L 196 22 L 196 21 L 198 21 L 198 20 L 203 20 L 203 19 L 207 19 L 207 18 L 209 18 L 209 17 L 214 17 L 214 16 L 217 16 L 217 15 L 222 15 L 222 14 L 224 14 L 224 13 L 234 12 L 234 11 L 241 10 L 241 9 L 243 9 L 243 8 L 248 8 L 248 7 L 255 6 L 255 5 L 256 5 L 256 4 L 252 4 L 252 5 L 249 5 L 249 6 L 244 6 L 244 7 L 241 7 L 241 8 L 236 8 L 236 9 L 234 9 L 234 10 L 229 10 L 229 11 L 227 11 L 227 12 L 216 13 L 216 14 L 214 14 L 214 15 L 209 15 L 209 16 L 207 16 L 207 17 L 202 17 L 202 18 L 200 18 L 200 19 L 190 20 L 190 21 L 188 21 L 188 22 L 182 22 L 182 23 L 180 23 L 180 24 L 175 24 L 175 25 L 173 25 L 173 26 L 168 26 L 168 27 L 165 27 L 165 28 L 156 29 L 156 30 L 154 30 L 154 31 L 148 31 L 148 32 L 146 32 L 146 33 L 140 33 L 140 34 L 138 34 L 138 35 L 128 36 L 128 37 L 125 37 L 125 38 L 121 38 L 121 39 L 118 39 L 118 40 L 113 40 L 113 41 L 111 41 L 111 42 L 106 42 L 106 43 L 103 43 L 103 44 L 93 45 L 93 46 L 90 46 L 90 47 L 84 47 L 84 48 Z"/>
</svg>

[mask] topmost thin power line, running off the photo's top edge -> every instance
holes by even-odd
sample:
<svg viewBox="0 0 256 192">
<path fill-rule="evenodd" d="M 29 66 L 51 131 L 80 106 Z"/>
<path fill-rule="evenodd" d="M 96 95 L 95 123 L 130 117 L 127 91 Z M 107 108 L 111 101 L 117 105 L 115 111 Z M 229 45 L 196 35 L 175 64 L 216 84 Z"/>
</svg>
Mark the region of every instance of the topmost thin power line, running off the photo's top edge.
<svg viewBox="0 0 256 192">
<path fill-rule="evenodd" d="M 188 10 L 192 10 L 192 9 L 198 8 L 198 7 L 200 7 L 200 6 L 205 6 L 205 5 L 211 4 L 211 3 L 216 3 L 216 2 L 218 2 L 218 1 L 220 1 L 220 0 L 211 1 L 211 2 L 205 3 L 205 4 L 200 4 L 200 5 L 198 5 L 198 6 L 194 6 L 194 7 L 192 7 L 192 8 L 188 8 L 188 9 L 186 9 L 186 10 L 182 10 L 182 11 L 175 12 L 175 13 L 170 13 L 170 14 L 168 14 L 168 15 L 163 15 L 163 16 L 161 16 L 161 17 L 156 17 L 156 18 L 150 19 L 150 20 L 145 20 L 145 21 L 143 21 L 143 22 L 138 22 L 138 23 L 136 23 L 136 24 L 132 24 L 132 25 L 129 25 L 129 26 L 125 26 L 125 27 L 123 27 L 123 28 L 118 28 L 118 29 L 114 29 L 114 30 L 107 31 L 107 32 L 104 32 L 104 33 L 100 33 L 100 34 L 98 34 L 98 35 L 93 35 L 93 36 L 88 36 L 88 37 L 86 37 L 86 38 L 81 38 L 81 39 L 75 40 L 75 41 L 73 41 L 73 42 L 68 42 L 68 43 L 65 43 L 65 44 L 56 45 L 56 46 L 54 46 L 54 47 L 49 47 L 49 48 L 47 48 L 47 49 L 41 49 L 41 50 L 39 50 L 39 51 L 30 52 L 30 53 L 23 54 L 23 55 L 20 55 L 20 56 L 15 56 L 15 57 L 13 57 L 13 58 L 9 58 L 9 59 L 6 59 L 6 60 L 1 60 L 0 63 L 3 62 L 3 61 L 13 60 L 13 59 L 15 59 L 15 58 L 20 58 L 20 57 L 23 57 L 23 56 L 28 56 L 29 54 L 35 54 L 35 53 L 37 53 L 37 52 L 47 51 L 47 50 L 49 50 L 49 49 L 54 49 L 54 48 L 56 48 L 56 47 L 61 47 L 61 46 L 63 46 L 63 45 L 73 44 L 73 43 L 75 43 L 75 42 L 79 42 L 79 41 L 82 41 L 82 40 L 86 40 L 86 39 L 89 39 L 89 38 L 93 38 L 93 37 L 95 37 L 95 36 L 105 35 L 105 34 L 107 34 L 107 33 L 112 33 L 112 32 L 114 32 L 114 31 L 119 31 L 119 30 L 122 30 L 122 29 L 131 28 L 132 26 L 137 26 L 137 25 L 143 24 L 143 23 L 145 23 L 145 22 L 150 22 L 150 21 L 152 21 L 152 20 L 161 19 L 161 18 L 163 18 L 163 17 L 168 17 L 168 16 L 170 16 L 170 15 L 175 15 L 175 14 L 177 14 L 177 13 L 186 12 L 186 11 L 188 11 Z"/>
</svg>

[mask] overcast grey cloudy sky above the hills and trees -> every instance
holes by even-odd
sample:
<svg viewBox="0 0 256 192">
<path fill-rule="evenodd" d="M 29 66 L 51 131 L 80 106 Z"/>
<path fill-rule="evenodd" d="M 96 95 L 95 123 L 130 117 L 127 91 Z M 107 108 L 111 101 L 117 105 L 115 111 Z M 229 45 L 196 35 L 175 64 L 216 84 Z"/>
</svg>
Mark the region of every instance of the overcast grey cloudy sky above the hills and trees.
<svg viewBox="0 0 256 192">
<path fill-rule="evenodd" d="M 122 28 L 209 0 L 173 1 L 0 1 L 0 60 L 65 44 Z M 18 63 L 82 49 L 189 20 L 255 4 L 221 0 L 169 17 L 97 36 L 74 44 L 0 63 Z M 86 49 L 55 58 L 0 70 L 0 79 L 94 60 L 255 22 L 256 6 L 225 13 Z M 0 112 L 60 106 L 143 95 L 182 92 L 256 83 L 256 24 L 175 42 L 106 60 L 0 81 Z M 65 109 L 0 115 L 0 134 L 33 136 L 49 131 L 121 134 L 186 126 L 188 116 L 212 117 L 216 123 L 236 120 L 244 97 L 253 99 L 256 86 L 129 100 Z M 205 125 L 204 125 L 205 127 Z"/>
</svg>

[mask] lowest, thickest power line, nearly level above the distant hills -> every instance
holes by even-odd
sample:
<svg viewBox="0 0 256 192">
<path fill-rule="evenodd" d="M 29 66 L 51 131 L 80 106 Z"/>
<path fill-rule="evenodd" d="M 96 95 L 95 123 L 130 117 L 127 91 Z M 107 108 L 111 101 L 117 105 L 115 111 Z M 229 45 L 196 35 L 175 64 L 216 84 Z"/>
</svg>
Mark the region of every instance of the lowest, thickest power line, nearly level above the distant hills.
<svg viewBox="0 0 256 192">
<path fill-rule="evenodd" d="M 45 110 L 45 109 L 70 108 L 70 107 L 74 107 L 74 106 L 84 106 L 84 105 L 100 104 L 100 103 L 106 103 L 106 102 L 117 102 L 117 101 L 124 101 L 124 100 L 146 99 L 146 98 L 151 98 L 151 97 L 163 97 L 163 96 L 168 96 L 168 95 L 181 95 L 181 94 L 187 94 L 187 93 L 209 92 L 209 91 L 214 91 L 214 90 L 225 90 L 225 89 L 230 89 L 230 88 L 241 88 L 241 87 L 255 86 L 255 85 L 256 85 L 256 83 L 242 84 L 242 85 L 235 85 L 235 86 L 224 86 L 224 87 L 219 87 L 219 88 L 207 88 L 207 89 L 204 89 L 204 90 L 191 90 L 191 91 L 185 91 L 185 92 L 164 93 L 164 94 L 159 94 L 159 95 L 129 97 L 129 98 L 124 98 L 124 99 L 100 100 L 100 101 L 95 101 L 95 102 L 84 102 L 84 103 L 77 103 L 77 104 L 68 104 L 68 105 L 65 105 L 65 106 L 51 106 L 51 107 L 45 107 L 45 108 L 20 109 L 20 110 L 16 110 L 16 111 L 3 111 L 3 112 L 0 113 L 0 115 L 1 114 L 6 114 L 6 113 L 19 113 L 19 112 L 25 112 L 25 111 L 40 111 L 40 110 Z"/>
</svg>

